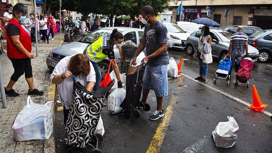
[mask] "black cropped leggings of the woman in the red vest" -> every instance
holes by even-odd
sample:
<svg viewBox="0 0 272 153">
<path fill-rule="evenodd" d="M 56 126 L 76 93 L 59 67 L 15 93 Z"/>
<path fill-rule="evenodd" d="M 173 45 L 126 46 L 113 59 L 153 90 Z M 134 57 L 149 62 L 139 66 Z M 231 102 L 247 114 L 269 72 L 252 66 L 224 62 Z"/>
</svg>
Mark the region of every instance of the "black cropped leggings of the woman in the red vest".
<svg viewBox="0 0 272 153">
<path fill-rule="evenodd" d="M 30 58 L 9 58 L 11 60 L 12 66 L 14 68 L 14 73 L 11 75 L 12 81 L 18 81 L 23 73 L 25 78 L 31 78 L 32 75 L 32 66 Z"/>
</svg>

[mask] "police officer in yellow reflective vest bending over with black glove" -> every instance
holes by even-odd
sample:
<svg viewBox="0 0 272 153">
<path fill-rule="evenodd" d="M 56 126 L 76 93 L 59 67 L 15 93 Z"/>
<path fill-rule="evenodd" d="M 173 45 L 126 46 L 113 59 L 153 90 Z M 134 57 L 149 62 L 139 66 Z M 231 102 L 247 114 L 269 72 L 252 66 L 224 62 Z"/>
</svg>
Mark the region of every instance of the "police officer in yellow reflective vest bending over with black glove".
<svg viewBox="0 0 272 153">
<path fill-rule="evenodd" d="M 118 32 L 117 29 L 113 29 L 113 32 L 111 34 L 105 33 L 104 35 L 96 38 L 94 42 L 91 45 L 88 45 L 87 48 L 84 50 L 84 53 L 86 53 L 87 57 L 89 57 L 96 71 L 96 84 L 93 88 L 93 91 L 97 90 L 101 82 L 101 74 L 97 63 L 107 57 L 109 59 L 115 60 L 113 45 L 116 45 L 118 48 L 120 48 L 123 41 L 123 34 L 121 32 Z M 112 62 L 112 66 L 114 66 L 114 62 Z M 114 73 L 118 80 L 118 88 L 121 88 L 122 83 L 117 64 L 114 66 Z"/>
</svg>

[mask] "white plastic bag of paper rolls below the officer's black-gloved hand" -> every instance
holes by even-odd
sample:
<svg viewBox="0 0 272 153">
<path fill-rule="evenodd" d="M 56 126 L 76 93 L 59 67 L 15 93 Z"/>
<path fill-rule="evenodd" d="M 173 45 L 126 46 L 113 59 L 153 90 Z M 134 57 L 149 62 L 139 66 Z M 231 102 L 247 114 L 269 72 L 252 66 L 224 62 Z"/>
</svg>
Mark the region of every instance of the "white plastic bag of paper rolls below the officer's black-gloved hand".
<svg viewBox="0 0 272 153">
<path fill-rule="evenodd" d="M 125 99 L 125 89 L 117 88 L 108 96 L 108 110 L 113 114 L 120 113 L 121 103 Z"/>
</svg>

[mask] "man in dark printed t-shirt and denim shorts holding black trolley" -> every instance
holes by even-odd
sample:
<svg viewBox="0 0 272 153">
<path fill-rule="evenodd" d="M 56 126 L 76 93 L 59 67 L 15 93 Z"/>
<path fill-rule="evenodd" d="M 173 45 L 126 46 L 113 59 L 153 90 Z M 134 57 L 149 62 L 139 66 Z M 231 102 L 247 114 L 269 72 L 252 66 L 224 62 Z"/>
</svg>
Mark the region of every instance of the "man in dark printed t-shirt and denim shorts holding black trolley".
<svg viewBox="0 0 272 153">
<path fill-rule="evenodd" d="M 142 103 L 147 102 L 148 93 L 154 90 L 157 99 L 156 111 L 149 117 L 157 120 L 164 116 L 162 110 L 163 97 L 168 96 L 167 67 L 169 55 L 167 52 L 167 29 L 155 17 L 152 6 L 144 6 L 141 10 L 141 22 L 146 24 L 144 36 L 133 57 L 132 64 L 136 65 L 136 57 L 146 47 L 147 57 L 142 62 L 147 63 L 142 90 Z"/>
</svg>

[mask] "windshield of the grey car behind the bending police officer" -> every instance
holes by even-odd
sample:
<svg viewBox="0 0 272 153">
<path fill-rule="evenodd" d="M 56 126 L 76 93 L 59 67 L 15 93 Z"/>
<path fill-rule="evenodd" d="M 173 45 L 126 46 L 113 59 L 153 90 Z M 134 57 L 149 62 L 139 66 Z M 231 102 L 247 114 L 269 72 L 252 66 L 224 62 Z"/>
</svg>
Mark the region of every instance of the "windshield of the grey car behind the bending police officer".
<svg viewBox="0 0 272 153">
<path fill-rule="evenodd" d="M 97 37 L 102 36 L 104 33 L 111 33 L 112 31 L 113 30 L 109 30 L 109 29 L 97 29 L 87 34 L 85 37 L 81 38 L 79 42 L 91 44 Z"/>
</svg>

